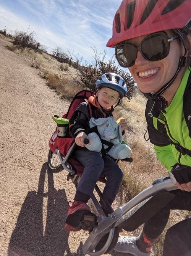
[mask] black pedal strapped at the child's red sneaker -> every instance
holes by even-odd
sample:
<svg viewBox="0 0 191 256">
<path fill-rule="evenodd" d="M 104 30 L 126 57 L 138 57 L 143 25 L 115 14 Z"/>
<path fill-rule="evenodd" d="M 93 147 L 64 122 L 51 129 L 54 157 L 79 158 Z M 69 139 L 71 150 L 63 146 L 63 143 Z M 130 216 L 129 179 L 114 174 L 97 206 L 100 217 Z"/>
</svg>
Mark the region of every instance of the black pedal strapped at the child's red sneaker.
<svg viewBox="0 0 191 256">
<path fill-rule="evenodd" d="M 76 211 L 68 215 L 66 223 L 77 229 L 89 230 L 97 227 L 97 216 L 90 211 Z"/>
</svg>

